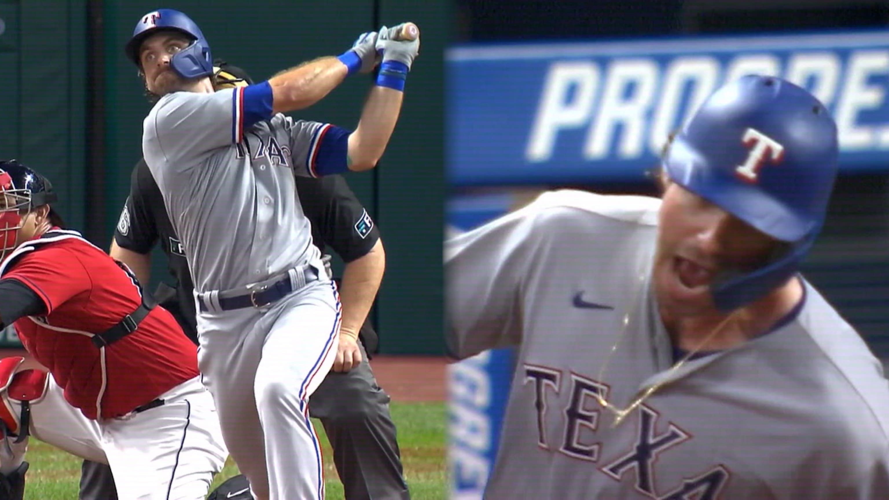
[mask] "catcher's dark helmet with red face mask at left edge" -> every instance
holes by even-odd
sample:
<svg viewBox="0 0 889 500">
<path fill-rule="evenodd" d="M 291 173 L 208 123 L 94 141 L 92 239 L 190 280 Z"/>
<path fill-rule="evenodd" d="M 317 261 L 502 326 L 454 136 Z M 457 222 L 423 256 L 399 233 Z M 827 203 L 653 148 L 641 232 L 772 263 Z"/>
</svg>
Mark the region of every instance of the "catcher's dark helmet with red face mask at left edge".
<svg viewBox="0 0 889 500">
<path fill-rule="evenodd" d="M 0 260 L 16 246 L 22 215 L 55 201 L 49 179 L 14 159 L 0 161 Z"/>
</svg>

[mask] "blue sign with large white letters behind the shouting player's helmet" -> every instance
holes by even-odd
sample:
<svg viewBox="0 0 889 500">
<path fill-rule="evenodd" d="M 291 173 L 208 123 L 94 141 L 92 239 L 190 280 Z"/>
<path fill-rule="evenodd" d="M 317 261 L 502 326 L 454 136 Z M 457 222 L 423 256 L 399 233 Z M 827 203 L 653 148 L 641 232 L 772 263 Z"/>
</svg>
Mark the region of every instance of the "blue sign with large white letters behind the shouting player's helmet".
<svg viewBox="0 0 889 500">
<path fill-rule="evenodd" d="M 786 78 L 837 120 L 841 169 L 889 170 L 889 31 L 449 49 L 454 186 L 642 181 L 709 93 Z"/>
</svg>

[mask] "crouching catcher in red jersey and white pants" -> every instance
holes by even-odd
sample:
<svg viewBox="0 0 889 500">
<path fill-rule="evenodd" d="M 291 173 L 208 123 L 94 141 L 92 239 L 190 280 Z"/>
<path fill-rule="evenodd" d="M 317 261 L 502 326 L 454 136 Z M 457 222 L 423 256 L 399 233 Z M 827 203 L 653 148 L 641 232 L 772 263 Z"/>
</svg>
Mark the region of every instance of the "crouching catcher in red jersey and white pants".
<svg viewBox="0 0 889 500">
<path fill-rule="evenodd" d="M 62 230 L 40 173 L 0 162 L 0 327 L 49 374 L 0 360 L 0 498 L 28 434 L 107 463 L 121 498 L 200 500 L 227 453 L 196 347 L 123 264 Z"/>
</svg>

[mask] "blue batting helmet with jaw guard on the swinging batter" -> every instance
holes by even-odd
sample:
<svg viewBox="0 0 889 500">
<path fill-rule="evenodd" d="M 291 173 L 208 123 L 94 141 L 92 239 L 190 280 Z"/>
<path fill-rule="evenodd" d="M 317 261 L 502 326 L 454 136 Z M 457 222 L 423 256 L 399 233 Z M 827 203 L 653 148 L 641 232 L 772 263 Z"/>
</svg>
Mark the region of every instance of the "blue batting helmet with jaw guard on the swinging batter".
<svg viewBox="0 0 889 500">
<path fill-rule="evenodd" d="M 213 74 L 213 58 L 210 44 L 207 43 L 201 28 L 187 15 L 172 9 L 158 9 L 148 12 L 136 23 L 132 38 L 124 47 L 127 57 L 141 69 L 139 49 L 148 36 L 158 31 L 178 31 L 194 40 L 188 47 L 172 56 L 170 66 L 180 77 L 201 78 Z"/>
</svg>

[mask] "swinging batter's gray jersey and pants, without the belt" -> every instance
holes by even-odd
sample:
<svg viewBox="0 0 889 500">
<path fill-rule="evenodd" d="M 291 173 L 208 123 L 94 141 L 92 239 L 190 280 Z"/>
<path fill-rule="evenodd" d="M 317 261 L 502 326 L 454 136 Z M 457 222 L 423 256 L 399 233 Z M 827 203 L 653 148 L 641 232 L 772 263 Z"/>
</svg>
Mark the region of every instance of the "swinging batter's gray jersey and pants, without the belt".
<svg viewBox="0 0 889 500">
<path fill-rule="evenodd" d="M 272 100 L 268 82 L 166 95 L 145 119 L 142 152 L 198 294 L 243 290 L 307 263 L 318 272 L 265 308 L 208 306 L 197 332 L 203 382 L 254 496 L 320 499 L 321 445 L 307 405 L 336 357 L 340 302 L 293 175 L 347 170 L 348 132 L 272 116 Z"/>
</svg>

